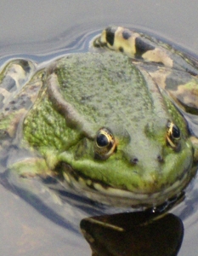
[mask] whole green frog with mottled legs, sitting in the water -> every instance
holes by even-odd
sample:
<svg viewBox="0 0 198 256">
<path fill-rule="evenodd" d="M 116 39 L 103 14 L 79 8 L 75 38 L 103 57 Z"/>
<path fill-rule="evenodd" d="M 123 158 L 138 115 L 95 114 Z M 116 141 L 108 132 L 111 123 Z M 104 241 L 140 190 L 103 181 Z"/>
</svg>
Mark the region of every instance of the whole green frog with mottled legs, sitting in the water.
<svg viewBox="0 0 198 256">
<path fill-rule="evenodd" d="M 90 45 L 44 67 L 5 64 L 3 165 L 110 206 L 178 198 L 198 161 L 197 61 L 122 26 L 108 26 Z"/>
</svg>

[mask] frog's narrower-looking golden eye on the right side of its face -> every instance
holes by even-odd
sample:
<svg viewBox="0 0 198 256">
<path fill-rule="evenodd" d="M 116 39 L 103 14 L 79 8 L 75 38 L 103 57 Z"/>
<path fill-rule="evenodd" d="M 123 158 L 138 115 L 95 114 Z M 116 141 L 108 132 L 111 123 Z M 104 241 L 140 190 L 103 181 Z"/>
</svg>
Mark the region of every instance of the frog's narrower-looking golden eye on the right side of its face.
<svg viewBox="0 0 198 256">
<path fill-rule="evenodd" d="M 178 126 L 169 121 L 167 123 L 167 143 L 169 143 L 172 148 L 178 148 L 180 138 L 181 133 Z"/>
</svg>

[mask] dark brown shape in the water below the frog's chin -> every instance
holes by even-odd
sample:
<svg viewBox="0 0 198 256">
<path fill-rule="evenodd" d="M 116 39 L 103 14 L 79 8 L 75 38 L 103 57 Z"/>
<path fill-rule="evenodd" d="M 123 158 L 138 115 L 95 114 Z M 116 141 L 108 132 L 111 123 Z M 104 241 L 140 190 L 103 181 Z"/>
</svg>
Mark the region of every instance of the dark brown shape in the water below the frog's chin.
<svg viewBox="0 0 198 256">
<path fill-rule="evenodd" d="M 84 218 L 82 234 L 94 256 L 176 256 L 184 236 L 180 218 L 148 212 Z"/>
</svg>

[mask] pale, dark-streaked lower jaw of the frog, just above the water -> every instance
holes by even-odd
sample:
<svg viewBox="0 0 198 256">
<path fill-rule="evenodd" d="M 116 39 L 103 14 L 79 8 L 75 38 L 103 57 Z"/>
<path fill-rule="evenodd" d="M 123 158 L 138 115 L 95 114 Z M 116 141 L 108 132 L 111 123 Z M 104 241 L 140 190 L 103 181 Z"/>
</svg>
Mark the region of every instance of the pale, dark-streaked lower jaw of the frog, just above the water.
<svg viewBox="0 0 198 256">
<path fill-rule="evenodd" d="M 170 198 L 178 197 L 190 183 L 194 172 L 189 169 L 184 170 L 183 175 L 178 177 L 177 181 L 161 191 L 154 193 L 136 193 L 124 189 L 116 189 L 97 180 L 91 180 L 71 166 L 64 163 L 63 177 L 64 184 L 77 195 L 88 197 L 93 201 L 99 201 L 106 205 L 115 207 L 156 207 Z"/>
</svg>

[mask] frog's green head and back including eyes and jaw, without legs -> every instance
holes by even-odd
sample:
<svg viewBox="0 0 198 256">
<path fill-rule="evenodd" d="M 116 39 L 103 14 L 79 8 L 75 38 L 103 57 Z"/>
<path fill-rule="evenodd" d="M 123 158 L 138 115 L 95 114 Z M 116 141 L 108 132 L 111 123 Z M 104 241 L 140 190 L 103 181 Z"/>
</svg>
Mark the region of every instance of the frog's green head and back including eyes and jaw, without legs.
<svg viewBox="0 0 198 256">
<path fill-rule="evenodd" d="M 77 191 L 114 205 L 159 205 L 193 175 L 182 115 L 148 73 L 114 53 L 55 61 L 24 137 Z"/>
</svg>

